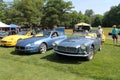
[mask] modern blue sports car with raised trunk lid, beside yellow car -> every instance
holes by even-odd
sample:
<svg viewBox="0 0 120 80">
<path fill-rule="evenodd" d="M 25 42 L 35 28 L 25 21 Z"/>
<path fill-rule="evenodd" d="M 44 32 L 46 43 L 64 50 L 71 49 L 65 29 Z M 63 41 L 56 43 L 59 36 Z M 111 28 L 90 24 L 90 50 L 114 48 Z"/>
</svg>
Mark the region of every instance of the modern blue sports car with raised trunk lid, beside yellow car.
<svg viewBox="0 0 120 80">
<path fill-rule="evenodd" d="M 45 53 L 47 49 L 53 48 L 52 43 L 56 40 L 66 39 L 64 27 L 58 27 L 53 31 L 43 32 L 43 36 L 34 36 L 28 39 L 20 40 L 15 47 L 16 52 Z"/>
</svg>

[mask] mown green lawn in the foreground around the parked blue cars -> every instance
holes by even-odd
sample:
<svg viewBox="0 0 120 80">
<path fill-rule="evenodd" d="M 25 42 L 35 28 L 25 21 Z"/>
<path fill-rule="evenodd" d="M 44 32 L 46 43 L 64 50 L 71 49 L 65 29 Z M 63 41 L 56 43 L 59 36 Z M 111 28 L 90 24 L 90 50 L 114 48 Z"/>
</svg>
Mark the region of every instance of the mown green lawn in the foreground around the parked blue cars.
<svg viewBox="0 0 120 80">
<path fill-rule="evenodd" d="M 105 34 L 109 29 L 104 29 Z M 119 43 L 120 44 L 120 43 Z M 45 54 L 20 55 L 0 47 L 0 80 L 119 80 L 120 46 L 106 40 L 91 61 Z"/>
</svg>

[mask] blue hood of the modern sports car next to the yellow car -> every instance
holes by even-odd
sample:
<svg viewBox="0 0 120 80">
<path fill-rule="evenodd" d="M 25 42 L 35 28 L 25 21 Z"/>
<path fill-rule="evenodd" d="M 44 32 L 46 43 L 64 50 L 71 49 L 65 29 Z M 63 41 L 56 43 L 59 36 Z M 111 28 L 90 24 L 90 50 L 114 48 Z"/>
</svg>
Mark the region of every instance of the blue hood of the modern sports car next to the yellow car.
<svg viewBox="0 0 120 80">
<path fill-rule="evenodd" d="M 39 41 L 39 40 L 43 40 L 45 39 L 46 37 L 31 37 L 31 38 L 27 38 L 27 39 L 24 39 L 24 40 L 21 40 L 17 43 L 17 46 L 26 46 L 30 43 L 34 43 L 36 41 Z"/>
</svg>

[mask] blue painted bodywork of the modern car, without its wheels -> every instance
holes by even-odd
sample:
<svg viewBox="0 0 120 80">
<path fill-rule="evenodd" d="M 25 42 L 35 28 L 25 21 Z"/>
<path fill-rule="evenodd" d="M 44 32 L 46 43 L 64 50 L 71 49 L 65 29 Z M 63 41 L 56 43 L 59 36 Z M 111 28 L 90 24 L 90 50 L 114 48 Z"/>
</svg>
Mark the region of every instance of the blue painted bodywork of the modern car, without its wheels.
<svg viewBox="0 0 120 80">
<path fill-rule="evenodd" d="M 52 34 L 54 32 L 57 32 L 59 34 L 59 36 L 52 37 Z M 27 52 L 27 53 L 39 52 L 39 46 L 41 45 L 41 43 L 45 43 L 47 45 L 47 49 L 53 48 L 53 46 L 52 46 L 53 42 L 55 42 L 56 40 L 67 38 L 67 36 L 64 35 L 64 34 L 61 34 L 61 32 L 56 31 L 56 30 L 48 31 L 49 35 L 44 35 L 42 37 L 31 37 L 31 38 L 28 38 L 28 39 L 21 40 L 16 44 L 16 49 L 15 50 L 17 52 L 22 51 L 22 52 Z M 46 32 L 45 32 L 45 34 L 46 34 Z M 28 45 L 31 45 L 31 46 L 28 47 Z M 20 49 L 22 47 L 24 49 Z"/>
</svg>

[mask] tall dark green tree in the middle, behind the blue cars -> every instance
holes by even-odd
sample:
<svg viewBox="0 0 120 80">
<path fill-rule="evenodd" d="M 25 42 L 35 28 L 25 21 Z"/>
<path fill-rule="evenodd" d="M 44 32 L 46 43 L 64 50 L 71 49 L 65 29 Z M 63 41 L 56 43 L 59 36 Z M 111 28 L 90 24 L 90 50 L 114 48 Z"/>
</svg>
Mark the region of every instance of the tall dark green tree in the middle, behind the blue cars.
<svg viewBox="0 0 120 80">
<path fill-rule="evenodd" d="M 46 0 L 42 25 L 52 28 L 54 25 L 67 25 L 72 3 L 64 0 Z M 68 22 L 67 22 L 68 21 Z"/>
</svg>

